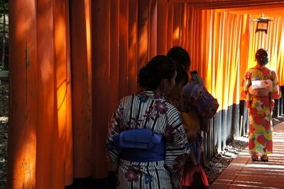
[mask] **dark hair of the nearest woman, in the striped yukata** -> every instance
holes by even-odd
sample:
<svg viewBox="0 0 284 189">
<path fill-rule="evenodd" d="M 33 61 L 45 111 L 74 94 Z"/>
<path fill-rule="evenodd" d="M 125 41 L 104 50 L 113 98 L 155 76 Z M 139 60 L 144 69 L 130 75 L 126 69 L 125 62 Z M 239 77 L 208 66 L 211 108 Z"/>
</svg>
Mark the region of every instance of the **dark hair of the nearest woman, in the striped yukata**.
<svg viewBox="0 0 284 189">
<path fill-rule="evenodd" d="M 143 88 L 155 90 L 163 79 L 172 79 L 175 71 L 176 66 L 173 60 L 165 55 L 156 55 L 140 69 L 138 83 Z"/>
</svg>

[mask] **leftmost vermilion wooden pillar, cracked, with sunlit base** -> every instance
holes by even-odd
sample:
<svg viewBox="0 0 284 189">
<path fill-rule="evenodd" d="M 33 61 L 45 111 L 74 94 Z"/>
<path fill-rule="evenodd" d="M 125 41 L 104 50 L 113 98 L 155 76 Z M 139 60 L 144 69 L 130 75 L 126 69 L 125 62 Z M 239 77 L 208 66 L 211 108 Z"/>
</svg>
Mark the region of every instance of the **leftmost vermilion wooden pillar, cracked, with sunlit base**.
<svg viewBox="0 0 284 189">
<path fill-rule="evenodd" d="M 35 188 L 38 125 L 35 13 L 35 1 L 18 0 L 9 4 L 7 188 Z"/>
</svg>

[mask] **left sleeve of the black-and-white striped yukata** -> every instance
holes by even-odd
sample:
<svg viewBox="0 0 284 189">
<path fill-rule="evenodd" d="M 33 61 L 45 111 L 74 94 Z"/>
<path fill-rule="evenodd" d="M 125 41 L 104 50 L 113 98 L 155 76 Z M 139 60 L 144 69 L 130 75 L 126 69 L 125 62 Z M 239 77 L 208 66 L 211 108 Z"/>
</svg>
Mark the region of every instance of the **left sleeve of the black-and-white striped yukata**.
<svg viewBox="0 0 284 189">
<path fill-rule="evenodd" d="M 111 117 L 111 121 L 109 123 L 109 129 L 107 134 L 107 158 L 108 160 L 114 164 L 116 167 L 117 161 L 119 159 L 119 151 L 116 149 L 116 145 L 114 143 L 114 136 L 119 134 L 121 128 L 121 114 L 124 112 L 124 105 L 122 102 L 119 102 L 118 107 L 114 111 L 114 114 Z"/>
</svg>

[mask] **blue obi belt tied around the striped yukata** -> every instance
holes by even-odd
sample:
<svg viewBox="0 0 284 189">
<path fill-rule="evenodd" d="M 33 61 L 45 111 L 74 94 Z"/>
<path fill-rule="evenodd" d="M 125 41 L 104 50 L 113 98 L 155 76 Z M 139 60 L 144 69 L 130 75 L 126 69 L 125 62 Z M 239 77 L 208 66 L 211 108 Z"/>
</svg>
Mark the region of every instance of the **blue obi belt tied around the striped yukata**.
<svg viewBox="0 0 284 189">
<path fill-rule="evenodd" d="M 150 162 L 165 160 L 165 141 L 149 129 L 131 129 L 114 136 L 119 157 L 127 161 Z"/>
</svg>

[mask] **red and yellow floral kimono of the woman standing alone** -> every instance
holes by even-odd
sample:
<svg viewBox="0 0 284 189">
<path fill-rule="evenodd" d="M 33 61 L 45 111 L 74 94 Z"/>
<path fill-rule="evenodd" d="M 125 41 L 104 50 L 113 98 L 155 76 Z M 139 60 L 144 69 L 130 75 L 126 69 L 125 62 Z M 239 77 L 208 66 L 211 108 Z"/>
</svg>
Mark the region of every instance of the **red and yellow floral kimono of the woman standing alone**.
<svg viewBox="0 0 284 189">
<path fill-rule="evenodd" d="M 266 80 L 272 81 L 272 91 L 269 92 L 269 95 L 250 94 L 249 87 L 253 82 Z M 256 65 L 256 67 L 247 70 L 244 75 L 242 96 L 246 98 L 246 107 L 249 109 L 249 153 L 251 156 L 272 153 L 273 99 L 280 97 L 276 72 L 261 65 Z"/>
</svg>

